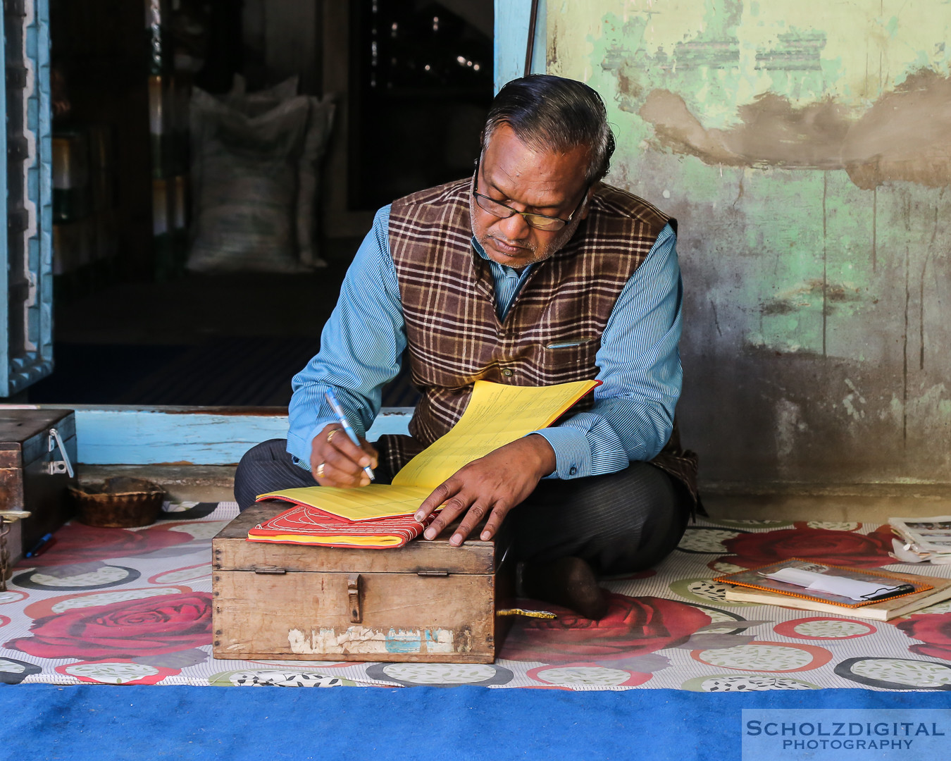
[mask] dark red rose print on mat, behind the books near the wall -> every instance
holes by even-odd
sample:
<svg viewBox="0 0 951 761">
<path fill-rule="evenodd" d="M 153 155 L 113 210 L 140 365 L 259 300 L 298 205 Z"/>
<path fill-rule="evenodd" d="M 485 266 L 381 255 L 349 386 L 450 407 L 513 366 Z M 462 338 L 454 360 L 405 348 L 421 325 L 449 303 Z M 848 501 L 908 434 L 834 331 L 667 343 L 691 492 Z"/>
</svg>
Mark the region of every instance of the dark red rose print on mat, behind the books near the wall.
<svg viewBox="0 0 951 761">
<path fill-rule="evenodd" d="M 895 562 L 891 550 L 890 529 L 876 529 L 868 535 L 854 531 L 831 531 L 807 527 L 753 532 L 725 539 L 724 546 L 734 555 L 716 561 L 742 568 L 757 568 L 789 557 L 821 560 L 830 565 L 875 568 Z"/>
</svg>

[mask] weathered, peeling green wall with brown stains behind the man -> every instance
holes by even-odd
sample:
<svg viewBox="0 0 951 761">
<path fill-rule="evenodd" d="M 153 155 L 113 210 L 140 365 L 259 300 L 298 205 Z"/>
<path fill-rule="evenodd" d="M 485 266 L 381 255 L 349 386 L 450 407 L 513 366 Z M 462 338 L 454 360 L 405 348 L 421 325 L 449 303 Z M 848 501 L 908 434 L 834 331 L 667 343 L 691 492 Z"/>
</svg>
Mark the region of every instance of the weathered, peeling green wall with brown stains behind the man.
<svg viewBox="0 0 951 761">
<path fill-rule="evenodd" d="M 549 0 L 548 56 L 680 221 L 702 478 L 951 482 L 948 0 Z"/>
</svg>

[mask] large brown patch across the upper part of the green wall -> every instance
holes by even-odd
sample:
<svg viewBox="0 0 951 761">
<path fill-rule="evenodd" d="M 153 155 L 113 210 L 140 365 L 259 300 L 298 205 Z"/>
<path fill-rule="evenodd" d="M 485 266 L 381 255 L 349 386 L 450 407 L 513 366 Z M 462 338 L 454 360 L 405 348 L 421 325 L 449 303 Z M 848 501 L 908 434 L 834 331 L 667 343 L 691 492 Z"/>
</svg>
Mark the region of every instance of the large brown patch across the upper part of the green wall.
<svg viewBox="0 0 951 761">
<path fill-rule="evenodd" d="M 662 146 L 710 166 L 844 169 L 863 189 L 895 180 L 951 185 L 951 78 L 928 69 L 863 114 L 833 100 L 794 107 L 765 93 L 739 108 L 736 127 L 707 128 L 680 95 L 661 88 L 638 113 Z"/>
</svg>

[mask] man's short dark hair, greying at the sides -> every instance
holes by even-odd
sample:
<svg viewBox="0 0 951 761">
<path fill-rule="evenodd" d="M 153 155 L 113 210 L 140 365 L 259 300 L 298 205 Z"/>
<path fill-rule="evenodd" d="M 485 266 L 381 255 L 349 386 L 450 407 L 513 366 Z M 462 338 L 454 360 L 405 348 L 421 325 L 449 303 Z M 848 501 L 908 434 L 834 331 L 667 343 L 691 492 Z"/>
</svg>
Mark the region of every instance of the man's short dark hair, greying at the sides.
<svg viewBox="0 0 951 761">
<path fill-rule="evenodd" d="M 501 125 L 512 127 L 515 137 L 534 150 L 566 153 L 577 146 L 588 147 L 588 185 L 611 167 L 614 135 L 608 112 L 601 96 L 583 82 L 551 74 L 512 80 L 498 91 L 489 108 L 482 130 L 483 152 Z"/>
</svg>

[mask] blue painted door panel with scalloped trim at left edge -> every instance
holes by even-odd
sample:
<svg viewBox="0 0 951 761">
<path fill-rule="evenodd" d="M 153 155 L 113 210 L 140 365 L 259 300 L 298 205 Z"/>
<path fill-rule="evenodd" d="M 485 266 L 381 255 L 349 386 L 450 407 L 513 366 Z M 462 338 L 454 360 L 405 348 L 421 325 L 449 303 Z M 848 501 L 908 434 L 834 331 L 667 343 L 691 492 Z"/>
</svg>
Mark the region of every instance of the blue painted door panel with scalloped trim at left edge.
<svg viewBox="0 0 951 761">
<path fill-rule="evenodd" d="M 52 372 L 52 142 L 49 0 L 5 0 L 0 66 L 0 397 Z M 0 123 L 0 124 L 2 124 Z"/>
</svg>

